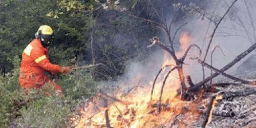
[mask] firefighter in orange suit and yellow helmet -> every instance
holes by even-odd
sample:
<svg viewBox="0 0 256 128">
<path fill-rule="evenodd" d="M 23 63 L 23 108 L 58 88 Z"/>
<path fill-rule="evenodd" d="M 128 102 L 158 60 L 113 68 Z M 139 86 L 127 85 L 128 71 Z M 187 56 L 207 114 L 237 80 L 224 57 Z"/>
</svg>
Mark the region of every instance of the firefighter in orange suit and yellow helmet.
<svg viewBox="0 0 256 128">
<path fill-rule="evenodd" d="M 53 35 L 50 26 L 40 26 L 35 33 L 35 39 L 23 51 L 19 74 L 19 84 L 22 89 L 40 89 L 45 83 L 49 83 L 62 94 L 62 88 L 52 81 L 45 72 L 48 71 L 52 75 L 69 73 L 72 67 L 61 67 L 50 62 L 47 47 L 51 44 Z"/>
</svg>

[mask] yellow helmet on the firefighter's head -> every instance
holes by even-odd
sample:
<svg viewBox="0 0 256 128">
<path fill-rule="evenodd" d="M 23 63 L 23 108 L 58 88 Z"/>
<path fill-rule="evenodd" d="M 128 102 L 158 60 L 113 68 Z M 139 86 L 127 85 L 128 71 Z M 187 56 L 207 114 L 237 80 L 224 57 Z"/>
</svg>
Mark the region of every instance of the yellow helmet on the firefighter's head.
<svg viewBox="0 0 256 128">
<path fill-rule="evenodd" d="M 53 30 L 48 25 L 40 26 L 37 32 L 35 33 L 36 38 L 42 37 L 42 38 L 52 39 L 52 36 L 53 36 Z"/>
</svg>

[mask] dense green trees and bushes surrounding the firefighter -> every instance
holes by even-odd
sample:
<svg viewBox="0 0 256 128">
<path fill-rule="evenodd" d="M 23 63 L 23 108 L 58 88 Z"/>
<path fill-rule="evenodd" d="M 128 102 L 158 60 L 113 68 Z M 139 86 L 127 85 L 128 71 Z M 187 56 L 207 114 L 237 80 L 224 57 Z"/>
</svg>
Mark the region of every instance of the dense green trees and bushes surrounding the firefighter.
<svg viewBox="0 0 256 128">
<path fill-rule="evenodd" d="M 153 1 L 158 10 L 174 12 L 173 4 L 183 1 Z M 187 2 L 183 2 L 188 4 Z M 200 4 L 200 2 L 195 1 Z M 177 11 L 177 10 L 176 10 Z M 178 15 L 182 15 L 178 11 Z M 160 31 L 148 27 L 135 15 L 158 21 L 146 0 L 94 1 L 0 1 L 0 127 L 65 127 L 72 109 L 98 89 L 97 82 L 123 73 L 125 61 L 143 58 L 148 39 Z M 165 14 L 163 14 L 165 15 Z M 50 25 L 55 33 L 49 47 L 50 59 L 61 66 L 102 63 L 91 70 L 74 70 L 59 75 L 65 90 L 60 98 L 47 85 L 23 95 L 19 89 L 19 62 L 24 48 L 40 25 Z M 45 96 L 45 91 L 51 93 Z"/>
</svg>

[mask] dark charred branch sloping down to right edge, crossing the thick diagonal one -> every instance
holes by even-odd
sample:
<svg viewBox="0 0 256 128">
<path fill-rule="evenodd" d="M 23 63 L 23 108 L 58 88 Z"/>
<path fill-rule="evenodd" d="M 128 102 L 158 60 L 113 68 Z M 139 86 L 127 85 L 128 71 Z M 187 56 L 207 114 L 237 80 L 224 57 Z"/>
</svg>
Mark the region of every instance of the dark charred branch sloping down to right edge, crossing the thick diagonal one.
<svg viewBox="0 0 256 128">
<path fill-rule="evenodd" d="M 243 79 L 240 79 L 240 78 L 237 78 L 237 77 L 234 77 L 234 76 L 231 76 L 229 74 L 226 74 L 224 72 L 221 72 L 220 70 L 208 65 L 207 63 L 203 62 L 202 60 L 198 59 L 198 62 L 201 63 L 201 65 L 211 69 L 211 70 L 214 70 L 215 72 L 217 73 L 220 73 L 222 74 L 223 76 L 227 77 L 227 78 L 230 78 L 234 81 L 240 81 L 241 83 L 244 83 L 244 84 L 251 84 L 251 85 L 256 85 L 256 81 L 247 81 L 247 80 L 243 80 Z"/>
</svg>

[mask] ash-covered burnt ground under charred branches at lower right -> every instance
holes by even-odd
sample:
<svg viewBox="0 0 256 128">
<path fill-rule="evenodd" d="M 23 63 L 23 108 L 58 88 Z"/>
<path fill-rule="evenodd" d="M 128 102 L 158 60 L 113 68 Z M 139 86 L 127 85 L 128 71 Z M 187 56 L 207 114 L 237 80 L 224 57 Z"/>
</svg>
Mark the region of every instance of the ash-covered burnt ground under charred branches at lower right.
<svg viewBox="0 0 256 128">
<path fill-rule="evenodd" d="M 226 87 L 218 87 L 221 91 L 237 92 L 242 90 L 256 89 L 256 86 L 250 86 L 245 84 L 230 85 Z M 212 94 L 204 94 L 204 101 L 198 104 L 198 108 L 203 106 L 206 108 L 209 103 L 209 97 Z M 188 106 L 189 108 L 189 106 Z M 233 97 L 229 99 L 222 99 L 218 101 L 214 108 L 215 112 L 228 112 L 232 111 L 235 116 L 223 117 L 212 115 L 212 120 L 206 127 L 256 127 L 256 94 L 251 94 L 242 97 Z M 176 115 L 172 120 L 168 120 L 169 123 L 165 123 L 160 127 L 202 127 L 204 121 L 204 114 L 190 115 L 182 113 Z"/>
</svg>

